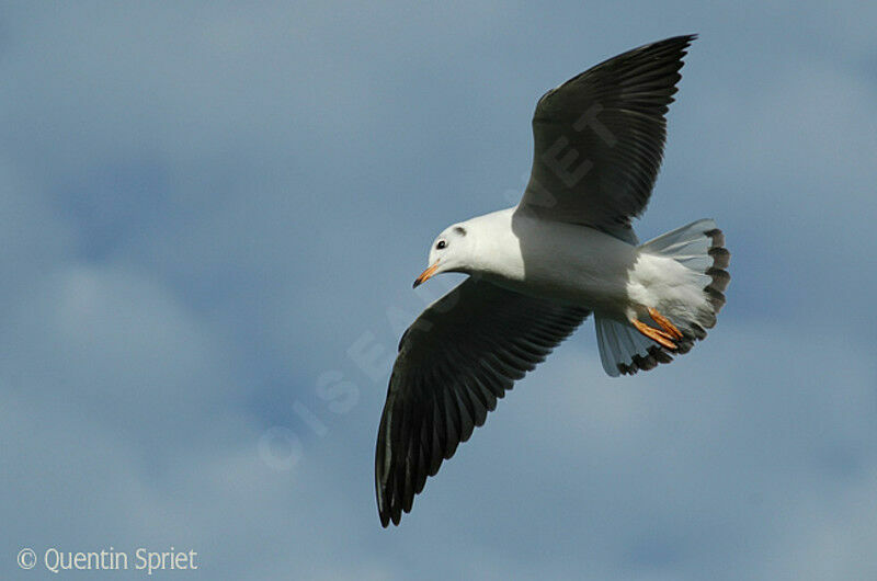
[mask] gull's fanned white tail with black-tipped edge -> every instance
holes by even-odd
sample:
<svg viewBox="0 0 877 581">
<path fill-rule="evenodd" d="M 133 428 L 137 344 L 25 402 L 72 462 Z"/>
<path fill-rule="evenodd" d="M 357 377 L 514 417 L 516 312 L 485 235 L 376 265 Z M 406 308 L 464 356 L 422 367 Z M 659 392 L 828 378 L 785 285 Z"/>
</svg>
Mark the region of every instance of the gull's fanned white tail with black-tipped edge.
<svg viewBox="0 0 877 581">
<path fill-rule="evenodd" d="M 725 289 L 731 277 L 726 270 L 730 252 L 725 235 L 711 219 L 676 228 L 639 247 L 640 252 L 672 259 L 672 293 L 654 307 L 682 333 L 671 351 L 640 333 L 628 321 L 595 314 L 597 344 L 603 368 L 611 376 L 651 369 L 673 361 L 673 353 L 687 353 L 695 341 L 706 337 L 716 324 L 716 315 L 725 305 Z M 682 266 L 682 267 L 680 267 Z M 659 321 L 656 321 L 659 322 Z"/>
</svg>

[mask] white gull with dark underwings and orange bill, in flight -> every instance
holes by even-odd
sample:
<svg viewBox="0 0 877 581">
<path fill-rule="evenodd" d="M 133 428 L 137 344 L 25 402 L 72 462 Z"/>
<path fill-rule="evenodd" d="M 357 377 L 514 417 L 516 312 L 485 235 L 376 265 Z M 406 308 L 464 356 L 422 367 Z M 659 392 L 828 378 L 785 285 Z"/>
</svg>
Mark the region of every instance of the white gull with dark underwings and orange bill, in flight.
<svg viewBox="0 0 877 581">
<path fill-rule="evenodd" d="M 603 368 L 647 371 L 716 324 L 730 254 L 711 219 L 640 244 L 630 226 L 663 157 L 668 105 L 695 35 L 635 48 L 551 89 L 533 115 L 515 207 L 454 224 L 414 286 L 470 276 L 399 342 L 375 455 L 383 526 L 410 512 L 443 459 L 591 314 Z"/>
</svg>

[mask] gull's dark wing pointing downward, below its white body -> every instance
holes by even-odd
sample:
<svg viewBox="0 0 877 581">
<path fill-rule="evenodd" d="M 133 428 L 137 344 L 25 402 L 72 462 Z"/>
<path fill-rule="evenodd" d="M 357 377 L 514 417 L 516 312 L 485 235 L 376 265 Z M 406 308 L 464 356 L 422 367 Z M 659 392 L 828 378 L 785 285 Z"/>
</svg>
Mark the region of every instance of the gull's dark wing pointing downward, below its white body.
<svg viewBox="0 0 877 581">
<path fill-rule="evenodd" d="M 378 429 L 381 525 L 399 524 L 426 475 L 588 315 L 468 278 L 418 317 L 399 342 Z"/>
</svg>

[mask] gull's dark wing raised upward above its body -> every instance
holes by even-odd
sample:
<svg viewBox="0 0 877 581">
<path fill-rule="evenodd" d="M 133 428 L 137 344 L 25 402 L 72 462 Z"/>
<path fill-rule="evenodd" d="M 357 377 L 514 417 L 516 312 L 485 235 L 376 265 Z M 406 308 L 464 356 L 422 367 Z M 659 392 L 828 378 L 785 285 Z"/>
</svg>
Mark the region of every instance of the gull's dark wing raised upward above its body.
<svg viewBox="0 0 877 581">
<path fill-rule="evenodd" d="M 521 207 L 630 240 L 663 156 L 664 114 L 696 35 L 635 48 L 545 93 Z"/>
</svg>

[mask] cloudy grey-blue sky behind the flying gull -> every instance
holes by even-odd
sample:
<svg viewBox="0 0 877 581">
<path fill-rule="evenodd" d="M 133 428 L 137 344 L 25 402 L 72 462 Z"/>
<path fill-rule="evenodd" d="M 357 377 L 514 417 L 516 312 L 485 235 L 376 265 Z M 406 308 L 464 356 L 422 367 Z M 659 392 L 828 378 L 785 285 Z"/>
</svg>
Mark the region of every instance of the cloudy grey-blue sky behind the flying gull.
<svg viewBox="0 0 877 581">
<path fill-rule="evenodd" d="M 877 577 L 874 7 L 0 19 L 2 577 L 110 546 L 204 579 Z M 718 327 L 612 379 L 585 323 L 381 529 L 392 352 L 459 280 L 411 290 L 428 244 L 517 200 L 546 89 L 692 32 L 637 229 L 718 220 Z"/>
</svg>

